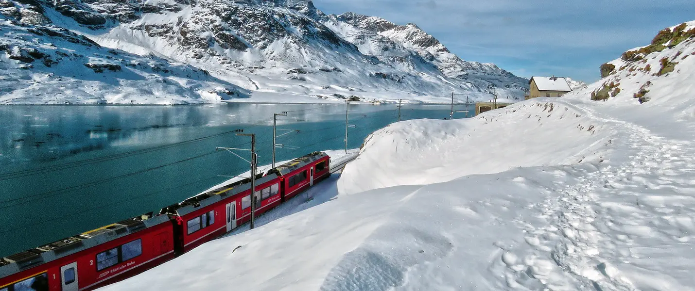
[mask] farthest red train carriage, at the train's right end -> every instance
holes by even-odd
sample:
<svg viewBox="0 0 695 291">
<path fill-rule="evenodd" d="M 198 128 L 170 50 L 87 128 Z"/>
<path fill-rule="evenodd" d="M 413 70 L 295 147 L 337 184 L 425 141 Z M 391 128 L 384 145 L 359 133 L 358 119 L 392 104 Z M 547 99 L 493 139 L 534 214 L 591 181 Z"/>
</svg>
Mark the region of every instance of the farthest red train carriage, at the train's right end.
<svg viewBox="0 0 695 291">
<path fill-rule="evenodd" d="M 325 152 L 312 152 L 276 167 L 275 173 L 282 179 L 282 201 L 329 177 L 329 162 L 330 157 Z"/>
</svg>

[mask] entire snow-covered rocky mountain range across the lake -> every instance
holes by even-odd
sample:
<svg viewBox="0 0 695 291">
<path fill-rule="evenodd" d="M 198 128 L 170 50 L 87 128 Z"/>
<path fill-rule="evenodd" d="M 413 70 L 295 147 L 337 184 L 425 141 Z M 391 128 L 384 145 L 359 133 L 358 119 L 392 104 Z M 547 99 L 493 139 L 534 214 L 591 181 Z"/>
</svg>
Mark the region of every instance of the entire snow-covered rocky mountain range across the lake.
<svg viewBox="0 0 695 291">
<path fill-rule="evenodd" d="M 446 102 L 451 92 L 480 100 L 493 92 L 521 96 L 528 89 L 525 79 L 494 64 L 461 60 L 414 24 L 398 26 L 353 13 L 325 15 L 306 0 L 0 0 L 0 7 L 0 45 L 6 51 L 0 55 L 6 60 L 0 69 L 9 76 L 0 83 L 7 87 L 0 93 L 1 103 L 202 103 L 257 92 L 281 98 L 314 96 L 317 102 Z M 88 45 L 63 44 L 58 35 L 32 33 L 40 30 L 60 30 Z M 56 48 L 40 45 L 51 43 Z M 13 57 L 17 50 L 35 49 L 58 60 L 55 55 L 63 46 L 81 57 L 63 58 L 54 69 Z M 112 61 L 104 57 L 109 55 L 125 57 Z M 90 71 L 92 58 L 121 69 Z M 168 73 L 158 76 L 157 71 L 126 68 L 125 62 L 136 59 L 156 59 L 160 67 L 185 67 L 204 76 L 177 69 L 164 69 Z M 81 69 L 63 69 L 68 65 Z M 171 72 L 176 77 L 167 75 Z M 37 93 L 42 90 L 29 92 L 37 85 L 17 81 L 50 73 L 61 80 L 72 78 L 61 87 L 67 91 L 65 98 L 54 98 L 56 90 L 47 96 Z M 145 89 L 142 96 L 147 97 L 133 97 L 140 95 L 133 92 L 149 88 L 131 82 L 143 74 L 171 80 L 177 88 Z M 70 93 L 82 87 L 99 89 Z M 159 100 L 163 96 L 169 100 Z"/>
</svg>

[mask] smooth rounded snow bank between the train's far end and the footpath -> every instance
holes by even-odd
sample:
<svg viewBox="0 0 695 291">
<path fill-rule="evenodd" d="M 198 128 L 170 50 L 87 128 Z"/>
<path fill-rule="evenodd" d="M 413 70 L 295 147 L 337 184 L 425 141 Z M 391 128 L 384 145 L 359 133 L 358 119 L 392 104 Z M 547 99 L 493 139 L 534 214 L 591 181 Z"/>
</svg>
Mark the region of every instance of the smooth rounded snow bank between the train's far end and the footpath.
<svg viewBox="0 0 695 291">
<path fill-rule="evenodd" d="M 366 138 L 338 181 L 341 193 L 431 184 L 516 167 L 604 159 L 611 130 L 571 105 L 518 103 L 475 118 L 393 123 Z M 358 169 L 371 169 L 362 171 Z"/>
</svg>

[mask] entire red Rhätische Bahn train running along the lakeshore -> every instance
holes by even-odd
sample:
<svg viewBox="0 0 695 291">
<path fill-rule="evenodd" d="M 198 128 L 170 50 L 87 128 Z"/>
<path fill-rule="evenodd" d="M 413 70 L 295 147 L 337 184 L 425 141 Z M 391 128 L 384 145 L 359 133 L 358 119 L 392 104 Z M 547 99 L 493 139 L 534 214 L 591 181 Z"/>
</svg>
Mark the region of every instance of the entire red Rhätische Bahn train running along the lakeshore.
<svg viewBox="0 0 695 291">
<path fill-rule="evenodd" d="M 329 161 L 312 152 L 256 175 L 256 216 L 329 177 Z M 0 291 L 94 290 L 144 272 L 250 220 L 250 182 L 0 258 Z"/>
</svg>

